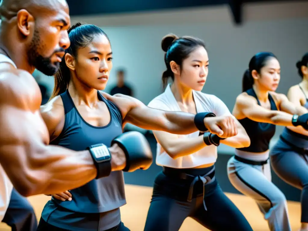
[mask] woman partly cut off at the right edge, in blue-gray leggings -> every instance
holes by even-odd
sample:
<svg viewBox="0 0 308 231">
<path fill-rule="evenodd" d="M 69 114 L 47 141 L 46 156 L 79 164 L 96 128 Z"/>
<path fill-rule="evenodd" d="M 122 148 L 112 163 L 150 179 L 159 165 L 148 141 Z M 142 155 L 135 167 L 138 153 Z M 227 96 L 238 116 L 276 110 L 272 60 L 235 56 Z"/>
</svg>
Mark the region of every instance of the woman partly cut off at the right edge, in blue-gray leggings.
<svg viewBox="0 0 308 231">
<path fill-rule="evenodd" d="M 302 82 L 290 87 L 288 98 L 308 109 L 308 53 L 296 63 Z M 301 231 L 308 230 L 308 132 L 301 127 L 284 128 L 270 152 L 271 165 L 286 183 L 302 190 Z"/>
</svg>

